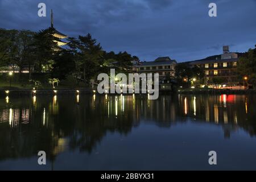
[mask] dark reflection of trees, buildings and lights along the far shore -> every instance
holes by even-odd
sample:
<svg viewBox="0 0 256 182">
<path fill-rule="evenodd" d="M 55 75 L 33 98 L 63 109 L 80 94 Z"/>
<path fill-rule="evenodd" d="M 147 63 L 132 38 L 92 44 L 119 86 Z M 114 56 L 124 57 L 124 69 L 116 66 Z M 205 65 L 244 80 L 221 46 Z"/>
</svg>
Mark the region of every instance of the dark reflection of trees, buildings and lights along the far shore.
<svg viewBox="0 0 256 182">
<path fill-rule="evenodd" d="M 107 133 L 128 135 L 141 123 L 168 128 L 192 119 L 201 125 L 221 126 L 224 138 L 232 138 L 239 128 L 251 137 L 256 134 L 255 96 L 74 97 L 34 96 L 32 102 L 31 98 L 11 98 L 11 103 L 2 98 L 0 160 L 35 156 L 38 150 L 46 151 L 52 161 L 60 152 L 77 148 L 90 154 Z"/>
</svg>

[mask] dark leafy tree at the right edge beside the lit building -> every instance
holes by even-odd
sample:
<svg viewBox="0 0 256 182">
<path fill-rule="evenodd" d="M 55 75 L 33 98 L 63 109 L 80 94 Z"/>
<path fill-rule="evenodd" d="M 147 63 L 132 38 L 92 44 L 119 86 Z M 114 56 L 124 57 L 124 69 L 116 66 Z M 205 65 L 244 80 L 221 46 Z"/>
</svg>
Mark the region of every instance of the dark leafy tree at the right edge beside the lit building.
<svg viewBox="0 0 256 182">
<path fill-rule="evenodd" d="M 244 56 L 238 59 L 237 73 L 241 81 L 246 76 L 247 82 L 256 86 L 256 48 L 249 49 Z"/>
</svg>

